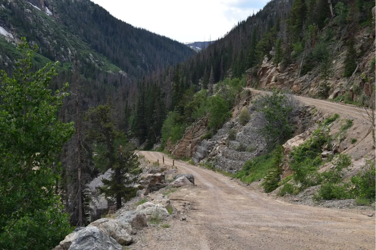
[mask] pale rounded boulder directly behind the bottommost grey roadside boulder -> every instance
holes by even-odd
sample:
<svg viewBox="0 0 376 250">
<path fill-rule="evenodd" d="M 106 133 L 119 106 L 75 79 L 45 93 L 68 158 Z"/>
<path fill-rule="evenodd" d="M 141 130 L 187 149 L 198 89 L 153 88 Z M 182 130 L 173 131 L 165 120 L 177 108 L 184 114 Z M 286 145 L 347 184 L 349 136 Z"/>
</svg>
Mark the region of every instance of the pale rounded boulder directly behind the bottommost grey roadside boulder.
<svg viewBox="0 0 376 250">
<path fill-rule="evenodd" d="M 121 245 L 128 245 L 132 242 L 132 227 L 129 223 L 124 223 L 119 220 L 112 220 L 102 218 L 89 224 L 88 227 L 98 227 L 101 232 L 112 237 Z"/>
</svg>

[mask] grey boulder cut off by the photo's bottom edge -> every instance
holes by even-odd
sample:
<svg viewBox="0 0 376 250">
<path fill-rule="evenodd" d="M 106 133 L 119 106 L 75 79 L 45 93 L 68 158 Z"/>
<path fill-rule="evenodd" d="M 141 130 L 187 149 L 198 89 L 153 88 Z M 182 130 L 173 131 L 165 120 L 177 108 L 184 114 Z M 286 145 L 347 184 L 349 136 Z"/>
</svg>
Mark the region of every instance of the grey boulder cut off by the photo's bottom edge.
<svg viewBox="0 0 376 250">
<path fill-rule="evenodd" d="M 76 232 L 69 250 L 123 250 L 115 239 L 101 232 L 97 227 L 85 227 Z"/>
</svg>

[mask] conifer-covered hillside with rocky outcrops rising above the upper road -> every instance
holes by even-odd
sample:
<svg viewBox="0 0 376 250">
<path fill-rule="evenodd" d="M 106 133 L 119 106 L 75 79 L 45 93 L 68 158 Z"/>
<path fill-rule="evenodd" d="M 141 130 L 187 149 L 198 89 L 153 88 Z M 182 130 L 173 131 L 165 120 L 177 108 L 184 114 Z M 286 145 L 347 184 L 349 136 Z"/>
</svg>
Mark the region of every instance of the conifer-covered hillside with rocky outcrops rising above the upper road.
<svg viewBox="0 0 376 250">
<path fill-rule="evenodd" d="M 306 90 L 317 98 L 336 97 L 343 91 L 338 86 L 352 86 L 353 73 L 359 81 L 359 71 L 369 74 L 371 56 L 365 51 L 372 48 L 373 6 L 370 0 L 271 1 L 204 51 L 164 75 L 152 74 L 147 82 L 161 83 L 167 107 L 179 113 L 175 123 L 180 130 L 192 122 L 184 112 L 191 108 L 194 93 L 225 78 L 244 78 L 253 87 Z"/>
</svg>

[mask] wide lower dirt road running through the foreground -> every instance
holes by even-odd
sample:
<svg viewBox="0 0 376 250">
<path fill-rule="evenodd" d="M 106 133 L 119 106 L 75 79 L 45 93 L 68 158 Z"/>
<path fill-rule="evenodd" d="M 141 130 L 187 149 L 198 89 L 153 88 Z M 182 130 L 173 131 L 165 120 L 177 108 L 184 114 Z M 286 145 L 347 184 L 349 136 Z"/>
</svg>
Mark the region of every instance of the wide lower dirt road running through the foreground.
<svg viewBox="0 0 376 250">
<path fill-rule="evenodd" d="M 164 155 L 141 153 L 150 161 Z M 197 187 L 179 188 L 170 199 L 190 203 L 192 210 L 186 221 L 170 228 L 147 229 L 146 243 L 137 249 L 376 249 L 376 213 L 368 217 L 286 203 L 211 170 L 178 161 L 175 165 L 192 173 Z"/>
</svg>

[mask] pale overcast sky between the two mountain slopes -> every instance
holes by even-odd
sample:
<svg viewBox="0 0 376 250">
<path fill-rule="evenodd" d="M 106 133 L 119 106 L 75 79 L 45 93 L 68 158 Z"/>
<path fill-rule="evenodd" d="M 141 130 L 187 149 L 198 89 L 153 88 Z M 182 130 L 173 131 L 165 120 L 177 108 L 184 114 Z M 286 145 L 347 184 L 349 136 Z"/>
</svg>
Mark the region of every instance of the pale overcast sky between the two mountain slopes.
<svg viewBox="0 0 376 250">
<path fill-rule="evenodd" d="M 267 0 L 92 0 L 113 16 L 179 42 L 216 40 Z"/>
</svg>

